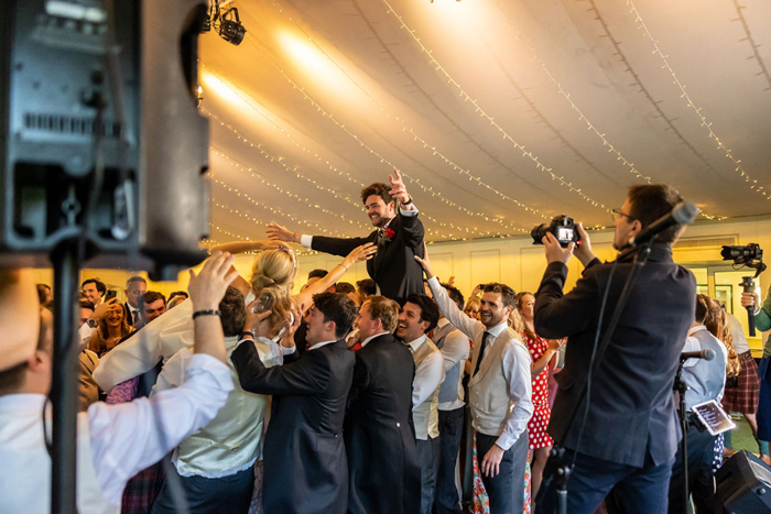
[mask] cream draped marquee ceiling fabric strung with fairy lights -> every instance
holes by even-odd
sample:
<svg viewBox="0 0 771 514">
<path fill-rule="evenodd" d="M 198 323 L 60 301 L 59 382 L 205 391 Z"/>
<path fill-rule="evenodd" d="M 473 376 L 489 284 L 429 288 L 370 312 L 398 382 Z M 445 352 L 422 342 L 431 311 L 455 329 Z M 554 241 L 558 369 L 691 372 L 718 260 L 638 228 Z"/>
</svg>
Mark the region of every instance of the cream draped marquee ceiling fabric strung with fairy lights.
<svg viewBox="0 0 771 514">
<path fill-rule="evenodd" d="M 771 212 L 768 0 L 237 0 L 200 37 L 211 233 L 363 234 L 397 166 L 430 241 L 611 225 L 632 184 Z"/>
</svg>

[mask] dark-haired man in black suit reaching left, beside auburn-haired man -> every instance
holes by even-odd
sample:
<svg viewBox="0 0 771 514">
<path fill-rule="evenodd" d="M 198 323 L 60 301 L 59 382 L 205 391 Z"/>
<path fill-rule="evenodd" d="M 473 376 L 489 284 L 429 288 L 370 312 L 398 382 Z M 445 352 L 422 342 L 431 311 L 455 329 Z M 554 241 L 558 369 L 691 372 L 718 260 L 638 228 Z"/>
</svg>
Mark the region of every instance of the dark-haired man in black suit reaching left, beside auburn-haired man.
<svg viewBox="0 0 771 514">
<path fill-rule="evenodd" d="M 273 395 L 263 449 L 267 513 L 337 514 L 348 505 L 343 420 L 356 358 L 345 336 L 356 305 L 335 293 L 313 299 L 308 348 L 294 362 L 265 369 L 249 341 L 231 357 L 245 391 Z"/>
</svg>

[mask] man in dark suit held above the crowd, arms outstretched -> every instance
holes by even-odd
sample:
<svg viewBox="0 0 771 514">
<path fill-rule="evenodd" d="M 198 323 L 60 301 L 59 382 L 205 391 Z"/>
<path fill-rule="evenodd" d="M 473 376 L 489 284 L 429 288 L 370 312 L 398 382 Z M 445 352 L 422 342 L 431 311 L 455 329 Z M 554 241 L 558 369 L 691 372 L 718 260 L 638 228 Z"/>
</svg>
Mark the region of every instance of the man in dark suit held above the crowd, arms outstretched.
<svg viewBox="0 0 771 514">
<path fill-rule="evenodd" d="M 361 201 L 377 230 L 366 238 L 327 238 L 292 232 L 279 225 L 270 225 L 271 239 L 293 241 L 305 248 L 335 255 L 348 255 L 355 248 L 368 242 L 378 244 L 374 259 L 367 261 L 367 272 L 374 280 L 379 294 L 387 298 L 406 298 L 424 294 L 423 271 L 414 256 L 423 256 L 423 223 L 417 208 L 408 195 L 399 171 L 389 175 L 391 186 L 376 183 L 361 190 Z M 398 203 L 398 207 L 397 207 Z"/>
</svg>

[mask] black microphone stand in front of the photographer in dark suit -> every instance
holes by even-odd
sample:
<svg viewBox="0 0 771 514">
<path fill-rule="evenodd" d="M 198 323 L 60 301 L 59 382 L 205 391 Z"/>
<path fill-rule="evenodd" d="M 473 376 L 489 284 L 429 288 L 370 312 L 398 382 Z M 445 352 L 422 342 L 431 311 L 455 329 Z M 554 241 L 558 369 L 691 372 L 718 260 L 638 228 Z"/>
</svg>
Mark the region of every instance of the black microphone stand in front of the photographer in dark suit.
<svg viewBox="0 0 771 514">
<path fill-rule="evenodd" d="M 653 238 L 655 239 L 655 238 Z M 629 276 L 627 277 L 627 282 L 623 285 L 623 289 L 621 289 L 621 294 L 616 302 L 616 307 L 613 307 L 613 315 L 610 318 L 610 322 L 608 324 L 608 328 L 605 331 L 605 335 L 602 336 L 602 340 L 600 341 L 598 348 L 597 348 L 597 354 L 595 357 L 595 361 L 593 362 L 593 373 L 597 371 L 599 365 L 602 363 L 602 357 L 605 356 L 605 351 L 608 349 L 608 346 L 610 345 L 610 338 L 612 337 L 613 332 L 616 331 L 616 326 L 618 325 L 619 320 L 621 319 L 621 315 L 623 314 L 623 308 L 627 305 L 627 300 L 629 299 L 629 294 L 631 293 L 632 286 L 634 285 L 634 282 L 638 277 L 638 274 L 642 266 L 645 265 L 645 262 L 648 262 L 648 256 L 651 253 L 651 244 L 653 240 L 647 241 L 645 243 L 639 245 L 639 247 L 631 247 L 625 251 L 619 252 L 617 256 L 617 261 L 621 259 L 622 256 L 628 255 L 632 251 L 637 250 L 637 253 L 634 254 L 634 260 L 632 261 L 632 270 L 629 273 Z M 610 282 L 608 281 L 608 287 L 610 286 Z M 597 330 L 601 330 L 602 327 L 598 326 Z M 565 456 L 565 439 L 567 438 L 567 435 L 571 433 L 571 429 L 573 428 L 573 425 L 575 424 L 576 416 L 578 414 L 578 407 L 582 405 L 584 400 L 586 398 L 586 391 L 587 391 L 587 385 L 588 385 L 588 378 L 587 381 L 585 381 L 582 384 L 580 389 L 580 394 L 578 396 L 578 401 L 573 404 L 573 407 L 571 408 L 571 413 L 568 416 L 568 422 L 567 426 L 564 431 L 563 439 L 561 441 L 555 441 L 554 446 L 552 447 L 552 450 L 550 451 L 550 459 L 547 460 L 546 468 L 544 469 L 544 478 L 541 483 L 541 489 L 539 491 L 539 495 L 535 499 L 536 503 L 540 502 L 546 490 L 549 489 L 549 485 L 551 484 L 552 480 L 557 481 L 557 513 L 558 514 L 567 514 L 567 481 L 571 478 L 571 472 L 573 471 L 572 469 L 572 462 L 568 462 Z M 576 442 L 576 448 L 574 450 L 574 455 L 577 453 L 578 447 L 580 446 L 580 439 Z"/>
</svg>

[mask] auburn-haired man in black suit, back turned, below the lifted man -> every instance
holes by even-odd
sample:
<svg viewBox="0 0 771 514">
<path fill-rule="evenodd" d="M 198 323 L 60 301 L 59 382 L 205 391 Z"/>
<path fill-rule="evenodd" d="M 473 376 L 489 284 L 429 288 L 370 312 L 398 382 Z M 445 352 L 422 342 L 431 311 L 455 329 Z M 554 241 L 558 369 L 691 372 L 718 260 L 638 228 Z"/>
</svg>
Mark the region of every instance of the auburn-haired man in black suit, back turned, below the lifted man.
<svg viewBox="0 0 771 514">
<path fill-rule="evenodd" d="M 348 512 L 414 513 L 421 468 L 412 427 L 412 353 L 397 340 L 399 304 L 370 296 L 357 324 L 354 385 L 348 395 Z"/>
</svg>

